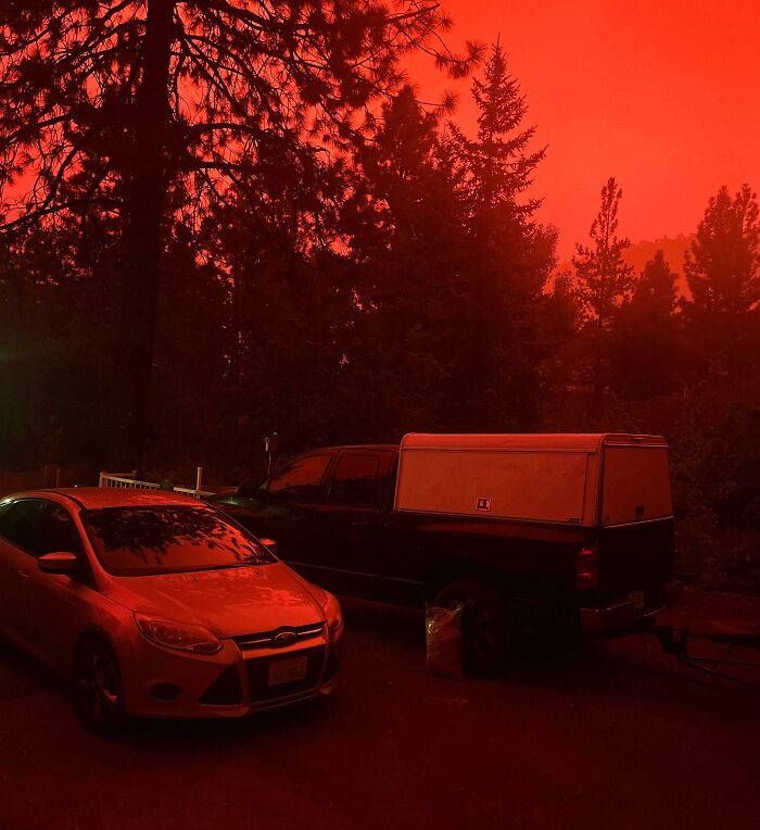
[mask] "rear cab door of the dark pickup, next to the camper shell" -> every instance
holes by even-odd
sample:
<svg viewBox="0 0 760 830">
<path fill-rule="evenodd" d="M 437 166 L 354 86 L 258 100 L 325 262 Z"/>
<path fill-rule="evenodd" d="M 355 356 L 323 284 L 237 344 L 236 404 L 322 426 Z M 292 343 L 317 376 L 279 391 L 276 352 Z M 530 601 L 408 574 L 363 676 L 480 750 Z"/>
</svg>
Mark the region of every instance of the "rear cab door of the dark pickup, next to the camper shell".
<svg viewBox="0 0 760 830">
<path fill-rule="evenodd" d="M 395 453 L 341 452 L 316 510 L 313 580 L 338 593 L 373 596 L 380 581 L 380 540 Z"/>
</svg>

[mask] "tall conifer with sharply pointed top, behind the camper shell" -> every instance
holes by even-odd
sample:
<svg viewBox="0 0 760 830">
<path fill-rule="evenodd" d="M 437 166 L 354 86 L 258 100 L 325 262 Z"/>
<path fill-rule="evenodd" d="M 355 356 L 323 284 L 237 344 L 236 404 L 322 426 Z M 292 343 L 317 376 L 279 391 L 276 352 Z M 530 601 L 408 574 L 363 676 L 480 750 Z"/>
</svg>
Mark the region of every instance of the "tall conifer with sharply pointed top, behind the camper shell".
<svg viewBox="0 0 760 830">
<path fill-rule="evenodd" d="M 553 341 L 542 291 L 555 264 L 556 231 L 535 221 L 540 201 L 525 193 L 545 150 L 530 149 L 535 129 L 522 125 L 525 98 L 498 43 L 472 97 L 476 137 L 449 124 L 442 147 L 467 229 L 455 411 L 463 429 L 530 428 L 539 418 Z"/>
</svg>

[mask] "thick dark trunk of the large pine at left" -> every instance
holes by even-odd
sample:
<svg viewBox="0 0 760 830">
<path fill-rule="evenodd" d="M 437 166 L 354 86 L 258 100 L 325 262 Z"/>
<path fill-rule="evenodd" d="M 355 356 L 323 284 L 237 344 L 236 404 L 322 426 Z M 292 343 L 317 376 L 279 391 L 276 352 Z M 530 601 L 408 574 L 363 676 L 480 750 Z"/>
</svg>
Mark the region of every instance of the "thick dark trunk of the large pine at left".
<svg viewBox="0 0 760 830">
<path fill-rule="evenodd" d="M 166 125 L 174 0 L 149 0 L 137 93 L 135 146 L 124 214 L 122 304 L 115 344 L 115 461 L 134 467 L 145 447 L 153 368 L 162 219 L 167 185 Z"/>
</svg>

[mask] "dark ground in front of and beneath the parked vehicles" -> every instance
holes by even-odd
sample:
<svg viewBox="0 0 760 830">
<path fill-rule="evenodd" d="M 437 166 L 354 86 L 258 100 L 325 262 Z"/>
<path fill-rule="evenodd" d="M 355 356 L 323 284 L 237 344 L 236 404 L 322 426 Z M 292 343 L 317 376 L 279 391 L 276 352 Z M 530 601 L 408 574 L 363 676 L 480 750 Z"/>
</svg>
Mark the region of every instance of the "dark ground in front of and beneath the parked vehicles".
<svg viewBox="0 0 760 830">
<path fill-rule="evenodd" d="M 333 697 L 116 741 L 0 646 L 0 828 L 758 827 L 757 692 L 641 637 L 572 659 L 527 641 L 498 679 L 444 680 L 419 614 L 345 609 Z M 760 621 L 760 601 L 687 592 L 675 621 L 700 617 Z"/>
</svg>

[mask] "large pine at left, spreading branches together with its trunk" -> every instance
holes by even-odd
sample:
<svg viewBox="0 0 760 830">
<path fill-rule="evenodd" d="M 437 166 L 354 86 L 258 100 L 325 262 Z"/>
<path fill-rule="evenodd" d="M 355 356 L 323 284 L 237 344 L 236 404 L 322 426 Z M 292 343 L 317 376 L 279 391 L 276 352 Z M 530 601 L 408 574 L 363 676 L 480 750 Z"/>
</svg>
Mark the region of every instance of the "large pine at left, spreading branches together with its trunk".
<svg viewBox="0 0 760 830">
<path fill-rule="evenodd" d="M 123 452 L 139 454 L 144 435 L 173 190 L 198 216 L 230 188 L 256 190 L 276 160 L 311 185 L 300 218 L 318 227 L 338 183 L 325 169 L 371 128 L 400 58 L 427 49 L 460 74 L 478 56 L 442 47 L 448 25 L 436 3 L 413 0 L 3 7 L 0 187 L 21 196 L 4 196 L 0 229 L 117 216 Z"/>
</svg>

